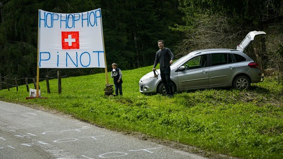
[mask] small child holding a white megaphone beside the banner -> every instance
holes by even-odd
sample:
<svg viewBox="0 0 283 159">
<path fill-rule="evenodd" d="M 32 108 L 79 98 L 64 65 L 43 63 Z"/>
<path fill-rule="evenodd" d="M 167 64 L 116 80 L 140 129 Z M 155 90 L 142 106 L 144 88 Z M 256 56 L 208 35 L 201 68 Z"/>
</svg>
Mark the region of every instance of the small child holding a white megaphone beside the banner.
<svg viewBox="0 0 283 159">
<path fill-rule="evenodd" d="M 117 66 L 118 64 L 116 63 L 112 64 L 113 70 L 111 71 L 111 78 L 113 78 L 113 82 L 115 85 L 115 94 L 118 96 L 118 89 L 119 89 L 120 95 L 123 95 L 122 93 L 123 80 L 122 80 L 122 71 L 120 68 L 117 68 Z M 115 74 L 115 71 L 117 72 L 116 74 Z"/>
</svg>

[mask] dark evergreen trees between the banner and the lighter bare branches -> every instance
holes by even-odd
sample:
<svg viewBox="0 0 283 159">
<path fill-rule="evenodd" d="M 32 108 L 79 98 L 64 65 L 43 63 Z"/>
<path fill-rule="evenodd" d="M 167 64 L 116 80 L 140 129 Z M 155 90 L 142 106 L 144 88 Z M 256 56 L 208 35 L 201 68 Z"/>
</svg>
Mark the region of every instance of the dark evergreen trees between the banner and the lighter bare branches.
<svg viewBox="0 0 283 159">
<path fill-rule="evenodd" d="M 113 0 L 102 1 L 101 6 L 110 64 L 123 69 L 153 64 L 159 39 L 169 47 L 182 38 L 169 30 L 181 17 L 177 0 Z"/>
</svg>

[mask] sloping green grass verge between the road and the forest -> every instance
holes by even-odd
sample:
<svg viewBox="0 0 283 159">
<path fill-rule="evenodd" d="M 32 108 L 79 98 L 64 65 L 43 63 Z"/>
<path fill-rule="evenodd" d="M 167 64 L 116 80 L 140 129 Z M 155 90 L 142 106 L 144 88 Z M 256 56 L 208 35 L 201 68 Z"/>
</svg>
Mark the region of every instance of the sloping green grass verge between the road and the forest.
<svg viewBox="0 0 283 159">
<path fill-rule="evenodd" d="M 0 100 L 62 111 L 96 125 L 192 145 L 206 152 L 243 159 L 283 159 L 283 86 L 276 77 L 250 90 L 208 89 L 174 98 L 143 95 L 139 79 L 152 66 L 123 71 L 123 96 L 104 95 L 105 74 L 40 82 L 41 96 L 28 99 L 26 86 L 0 91 Z M 108 73 L 110 83 L 112 79 Z M 33 88 L 33 84 L 29 85 Z M 210 153 L 207 153 L 208 158 Z"/>
</svg>

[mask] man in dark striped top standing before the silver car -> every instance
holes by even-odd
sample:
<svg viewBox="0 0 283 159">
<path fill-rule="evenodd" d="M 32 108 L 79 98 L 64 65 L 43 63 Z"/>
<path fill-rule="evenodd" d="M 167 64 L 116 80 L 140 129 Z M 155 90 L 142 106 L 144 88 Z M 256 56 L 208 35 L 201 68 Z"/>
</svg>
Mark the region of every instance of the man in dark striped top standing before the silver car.
<svg viewBox="0 0 283 159">
<path fill-rule="evenodd" d="M 157 43 L 159 50 L 156 52 L 152 70 L 155 71 L 156 65 L 158 63 L 160 64 L 160 76 L 162 83 L 165 86 L 166 96 L 173 97 L 173 83 L 170 79 L 170 65 L 173 64 L 174 55 L 169 48 L 164 48 L 164 43 L 162 40 L 159 40 Z"/>
</svg>

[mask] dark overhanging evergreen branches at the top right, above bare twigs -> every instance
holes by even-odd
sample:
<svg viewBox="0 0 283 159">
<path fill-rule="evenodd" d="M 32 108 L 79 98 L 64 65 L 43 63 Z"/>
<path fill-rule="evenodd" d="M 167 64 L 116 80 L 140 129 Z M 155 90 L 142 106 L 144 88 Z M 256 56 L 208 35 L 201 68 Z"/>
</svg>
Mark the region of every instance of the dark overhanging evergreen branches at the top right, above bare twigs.
<svg viewBox="0 0 283 159">
<path fill-rule="evenodd" d="M 238 24 L 255 25 L 282 16 L 282 0 L 182 0 L 185 6 L 209 15 L 235 17 Z"/>
</svg>

